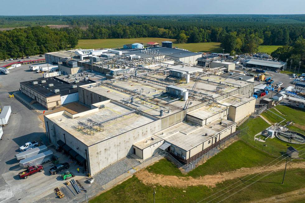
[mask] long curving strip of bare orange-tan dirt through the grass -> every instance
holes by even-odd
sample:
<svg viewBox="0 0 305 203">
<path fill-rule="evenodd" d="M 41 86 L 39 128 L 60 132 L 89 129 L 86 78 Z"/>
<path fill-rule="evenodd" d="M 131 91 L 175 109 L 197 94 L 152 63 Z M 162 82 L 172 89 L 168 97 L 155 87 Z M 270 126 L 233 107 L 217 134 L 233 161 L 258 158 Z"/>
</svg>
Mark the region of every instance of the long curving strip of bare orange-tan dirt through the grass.
<svg viewBox="0 0 305 203">
<path fill-rule="evenodd" d="M 284 164 L 273 166 L 266 169 L 264 172 L 270 172 L 273 170 L 282 170 Z M 302 162 L 298 163 L 289 163 L 287 168 L 305 168 L 305 164 Z M 199 178 L 193 177 L 177 177 L 177 176 L 167 176 L 160 174 L 149 173 L 147 170 L 141 170 L 136 173 L 136 177 L 146 185 L 159 184 L 161 186 L 170 186 L 170 187 L 187 187 L 187 186 L 197 186 L 197 185 L 206 185 L 209 187 L 215 187 L 218 182 L 223 182 L 226 180 L 231 180 L 239 177 L 249 175 L 251 173 L 260 173 L 262 170 L 257 168 L 240 168 L 235 171 L 217 173 L 214 175 L 205 175 Z"/>
</svg>

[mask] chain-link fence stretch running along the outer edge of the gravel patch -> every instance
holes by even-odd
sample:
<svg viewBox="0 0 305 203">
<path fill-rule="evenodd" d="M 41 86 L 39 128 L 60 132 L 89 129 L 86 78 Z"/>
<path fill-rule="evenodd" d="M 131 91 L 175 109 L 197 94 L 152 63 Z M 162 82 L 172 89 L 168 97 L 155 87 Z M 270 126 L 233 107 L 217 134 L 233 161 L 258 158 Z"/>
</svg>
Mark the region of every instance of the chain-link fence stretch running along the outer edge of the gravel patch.
<svg viewBox="0 0 305 203">
<path fill-rule="evenodd" d="M 123 182 L 124 180 L 126 180 L 127 178 L 131 177 L 138 170 L 146 168 L 147 166 L 155 163 L 156 161 L 163 159 L 168 154 L 169 153 L 167 151 L 161 151 L 161 152 L 153 155 L 152 157 L 144 160 L 142 163 L 139 163 L 138 165 L 135 165 L 133 168 L 130 168 L 129 170 L 125 171 L 123 174 L 112 179 L 111 181 L 107 182 L 106 184 L 100 185 L 90 191 L 86 191 L 86 193 L 84 195 L 73 199 L 73 203 L 89 202 L 89 199 L 101 194 L 103 191 L 109 190 L 110 188 L 114 187 L 115 185 L 117 185 L 117 184 Z"/>
</svg>

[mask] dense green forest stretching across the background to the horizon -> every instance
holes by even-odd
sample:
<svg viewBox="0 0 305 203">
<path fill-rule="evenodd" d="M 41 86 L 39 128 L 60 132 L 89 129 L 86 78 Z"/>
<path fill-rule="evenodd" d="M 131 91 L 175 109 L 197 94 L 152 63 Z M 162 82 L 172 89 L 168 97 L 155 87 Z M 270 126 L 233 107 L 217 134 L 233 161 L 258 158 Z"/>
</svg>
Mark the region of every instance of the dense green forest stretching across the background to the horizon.
<svg viewBox="0 0 305 203">
<path fill-rule="evenodd" d="M 50 29 L 43 25 L 69 25 Z M 73 48 L 78 39 L 161 37 L 178 43 L 221 42 L 228 53 L 260 44 L 293 45 L 305 36 L 305 15 L 0 16 L 0 57 Z"/>
</svg>

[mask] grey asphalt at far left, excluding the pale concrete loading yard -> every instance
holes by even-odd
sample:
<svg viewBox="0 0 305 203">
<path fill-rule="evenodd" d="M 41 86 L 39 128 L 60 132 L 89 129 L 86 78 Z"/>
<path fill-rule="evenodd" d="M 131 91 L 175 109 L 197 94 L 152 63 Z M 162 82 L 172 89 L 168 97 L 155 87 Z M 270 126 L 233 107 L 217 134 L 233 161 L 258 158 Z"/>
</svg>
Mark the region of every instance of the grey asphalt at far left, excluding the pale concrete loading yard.
<svg viewBox="0 0 305 203">
<path fill-rule="evenodd" d="M 21 81 L 33 80 L 42 77 L 42 74 L 29 70 L 29 64 L 10 69 L 10 73 L 0 74 L 0 105 L 10 105 L 12 114 L 7 126 L 3 129 L 3 140 L 0 141 L 0 202 L 16 202 L 14 196 L 7 192 L 3 183 L 2 174 L 15 170 L 15 155 L 19 146 L 28 141 L 39 140 L 44 135 L 43 122 L 38 118 L 38 113 L 30 110 L 15 98 L 9 98 L 12 91 L 19 90 Z M 2 184 L 3 183 L 3 184 Z"/>
</svg>

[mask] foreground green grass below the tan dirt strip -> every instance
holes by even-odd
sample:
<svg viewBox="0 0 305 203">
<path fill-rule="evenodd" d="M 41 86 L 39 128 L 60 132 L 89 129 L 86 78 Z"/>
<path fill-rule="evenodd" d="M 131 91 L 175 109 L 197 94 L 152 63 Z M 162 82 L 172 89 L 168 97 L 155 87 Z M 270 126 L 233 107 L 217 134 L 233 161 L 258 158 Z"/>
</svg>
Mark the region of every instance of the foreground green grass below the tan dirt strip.
<svg viewBox="0 0 305 203">
<path fill-rule="evenodd" d="M 265 173 L 267 174 L 267 173 Z M 257 180 L 263 175 L 259 175 L 253 180 Z M 250 177 L 249 177 L 250 178 Z M 231 196 L 223 202 L 233 203 L 233 202 L 248 202 L 250 200 L 258 200 L 274 195 L 279 195 L 285 192 L 297 190 L 305 187 L 305 170 L 304 169 L 291 169 L 287 170 L 285 176 L 284 184 L 280 184 L 283 178 L 283 171 L 273 172 L 267 177 L 256 182 L 251 186 L 245 188 L 241 192 Z M 113 202 L 124 202 L 124 203 L 145 203 L 153 202 L 153 188 L 156 190 L 156 202 L 175 202 L 175 203 L 189 203 L 189 202 L 198 202 L 217 191 L 224 189 L 225 187 L 230 186 L 231 184 L 239 181 L 240 179 L 233 179 L 230 181 L 225 181 L 223 183 L 218 183 L 214 188 L 208 188 L 206 186 L 190 186 L 185 188 L 175 188 L 175 187 L 162 187 L 160 185 L 145 185 L 138 180 L 135 176 L 129 178 L 125 182 L 117 185 L 116 187 L 102 193 L 101 195 L 91 199 L 90 203 L 113 203 Z M 245 187 L 251 184 L 251 181 L 245 182 L 242 186 Z M 237 186 L 234 185 L 234 186 Z M 232 189 L 233 186 L 229 187 L 224 191 Z M 233 194 L 235 191 L 238 191 L 242 187 L 237 187 L 236 189 L 228 192 L 227 194 L 221 196 L 220 198 L 212 201 L 218 202 L 223 198 L 227 197 L 229 194 Z M 184 192 L 185 191 L 185 192 Z M 224 191 L 213 196 L 217 197 L 220 194 L 223 194 Z M 212 199 L 211 197 L 203 202 Z"/>
</svg>

